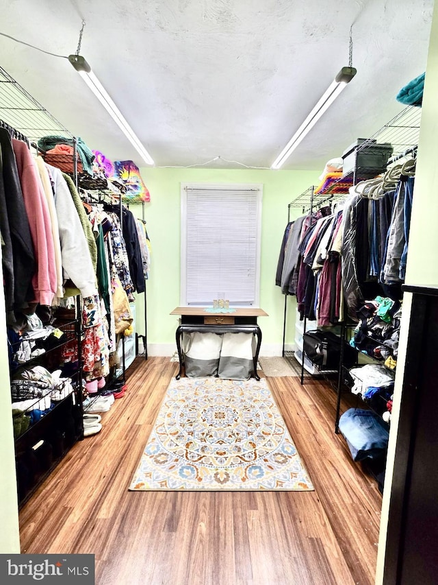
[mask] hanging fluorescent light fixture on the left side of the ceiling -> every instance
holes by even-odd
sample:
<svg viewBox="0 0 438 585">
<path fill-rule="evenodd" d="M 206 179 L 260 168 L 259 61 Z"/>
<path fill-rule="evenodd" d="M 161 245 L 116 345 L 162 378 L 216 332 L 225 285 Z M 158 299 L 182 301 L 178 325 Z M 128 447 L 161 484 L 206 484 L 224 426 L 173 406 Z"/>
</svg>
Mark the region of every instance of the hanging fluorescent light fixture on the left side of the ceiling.
<svg viewBox="0 0 438 585">
<path fill-rule="evenodd" d="M 79 75 L 81 75 L 83 81 L 86 82 L 92 93 L 94 93 L 97 99 L 99 99 L 99 102 L 101 102 L 102 106 L 107 110 L 112 119 L 118 124 L 120 130 L 122 130 L 123 134 L 125 134 L 129 142 L 133 145 L 138 154 L 140 154 L 146 165 L 153 165 L 154 162 L 151 155 L 147 152 L 146 148 L 144 148 L 138 139 L 138 136 L 136 136 L 131 126 L 129 126 L 129 123 L 127 123 L 123 117 L 122 112 L 120 112 L 116 104 L 114 104 L 110 95 L 108 95 L 96 75 L 94 75 L 88 62 L 86 62 L 86 60 L 80 55 L 69 55 L 68 60 L 73 67 L 75 67 Z"/>
</svg>

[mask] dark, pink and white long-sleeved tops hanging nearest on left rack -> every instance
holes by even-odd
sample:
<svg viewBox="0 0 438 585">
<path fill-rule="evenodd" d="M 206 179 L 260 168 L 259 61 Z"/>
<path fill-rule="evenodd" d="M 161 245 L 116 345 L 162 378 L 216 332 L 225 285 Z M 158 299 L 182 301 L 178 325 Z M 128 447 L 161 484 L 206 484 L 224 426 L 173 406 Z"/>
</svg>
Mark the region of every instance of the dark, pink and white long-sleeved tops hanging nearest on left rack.
<svg viewBox="0 0 438 585">
<path fill-rule="evenodd" d="M 94 242 L 81 226 L 62 171 L 35 160 L 27 144 L 4 129 L 0 147 L 3 276 L 8 319 L 14 322 L 13 311 L 27 303 L 56 305 L 68 279 L 82 296 L 94 294 Z"/>
</svg>

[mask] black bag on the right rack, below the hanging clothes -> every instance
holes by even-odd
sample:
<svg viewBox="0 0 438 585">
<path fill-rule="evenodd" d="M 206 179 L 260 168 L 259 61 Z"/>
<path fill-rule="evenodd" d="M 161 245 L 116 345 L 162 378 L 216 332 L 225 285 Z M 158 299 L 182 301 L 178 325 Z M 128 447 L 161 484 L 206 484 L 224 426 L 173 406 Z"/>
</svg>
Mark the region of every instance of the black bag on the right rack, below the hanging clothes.
<svg viewBox="0 0 438 585">
<path fill-rule="evenodd" d="M 302 336 L 305 355 L 321 370 L 338 370 L 341 360 L 342 339 L 331 331 L 306 331 Z M 344 342 L 342 363 L 347 368 L 357 361 L 357 351 Z"/>
</svg>

